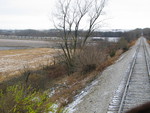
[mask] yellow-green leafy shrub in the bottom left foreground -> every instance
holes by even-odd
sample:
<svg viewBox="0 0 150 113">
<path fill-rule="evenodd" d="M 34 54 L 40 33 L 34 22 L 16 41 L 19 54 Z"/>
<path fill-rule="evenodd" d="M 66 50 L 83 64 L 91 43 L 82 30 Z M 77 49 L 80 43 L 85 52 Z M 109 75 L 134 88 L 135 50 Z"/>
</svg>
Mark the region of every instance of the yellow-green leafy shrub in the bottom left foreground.
<svg viewBox="0 0 150 113">
<path fill-rule="evenodd" d="M 25 88 L 21 84 L 9 86 L 5 91 L 0 90 L 0 113 L 47 113 L 54 112 L 46 93 Z"/>
</svg>

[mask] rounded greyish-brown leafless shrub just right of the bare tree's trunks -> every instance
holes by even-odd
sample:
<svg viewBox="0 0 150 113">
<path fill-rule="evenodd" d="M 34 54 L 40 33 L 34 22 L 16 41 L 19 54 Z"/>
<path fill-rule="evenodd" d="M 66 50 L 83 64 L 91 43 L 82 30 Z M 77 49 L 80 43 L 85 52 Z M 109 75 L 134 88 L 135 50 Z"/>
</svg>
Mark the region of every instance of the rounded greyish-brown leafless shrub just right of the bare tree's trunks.
<svg viewBox="0 0 150 113">
<path fill-rule="evenodd" d="M 76 71 L 81 74 L 89 73 L 96 69 L 107 58 L 106 49 L 101 49 L 100 45 L 92 45 L 84 48 L 76 57 Z"/>
</svg>

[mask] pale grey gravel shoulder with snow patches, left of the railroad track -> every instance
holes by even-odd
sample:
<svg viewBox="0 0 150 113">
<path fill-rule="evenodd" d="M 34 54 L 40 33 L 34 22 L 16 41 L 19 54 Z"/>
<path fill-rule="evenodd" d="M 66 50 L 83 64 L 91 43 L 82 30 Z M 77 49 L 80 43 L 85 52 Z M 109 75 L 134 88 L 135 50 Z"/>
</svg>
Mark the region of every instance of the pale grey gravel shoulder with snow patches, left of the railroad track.
<svg viewBox="0 0 150 113">
<path fill-rule="evenodd" d="M 137 42 L 139 43 L 139 41 Z M 135 55 L 137 43 L 124 53 L 115 64 L 109 66 L 85 88 L 75 101 L 68 105 L 69 113 L 106 113 L 108 105 L 117 90 L 122 78 L 127 75 Z"/>
</svg>

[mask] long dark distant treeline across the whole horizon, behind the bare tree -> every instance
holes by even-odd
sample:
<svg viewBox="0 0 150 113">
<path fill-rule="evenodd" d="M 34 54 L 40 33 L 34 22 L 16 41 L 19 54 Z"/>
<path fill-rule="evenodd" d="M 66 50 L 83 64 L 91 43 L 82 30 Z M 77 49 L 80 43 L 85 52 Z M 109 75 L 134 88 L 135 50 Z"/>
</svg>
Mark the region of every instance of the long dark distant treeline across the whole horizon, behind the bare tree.
<svg viewBox="0 0 150 113">
<path fill-rule="evenodd" d="M 73 32 L 73 31 L 72 31 Z M 84 36 L 86 31 L 79 31 L 79 36 Z M 50 29 L 50 30 L 0 30 L 0 35 L 14 35 L 14 36 L 35 36 L 35 37 L 61 37 L 63 31 Z M 150 28 L 135 29 L 129 31 L 94 31 L 92 37 L 124 37 L 128 40 L 135 39 L 143 34 L 145 37 L 150 38 Z"/>
</svg>

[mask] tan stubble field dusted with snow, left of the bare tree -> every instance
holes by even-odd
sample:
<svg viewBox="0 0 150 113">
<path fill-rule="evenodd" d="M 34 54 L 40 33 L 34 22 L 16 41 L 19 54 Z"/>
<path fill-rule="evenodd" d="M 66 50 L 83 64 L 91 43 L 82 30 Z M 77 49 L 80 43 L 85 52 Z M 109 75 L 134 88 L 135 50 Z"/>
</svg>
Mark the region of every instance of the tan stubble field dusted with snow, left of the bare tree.
<svg viewBox="0 0 150 113">
<path fill-rule="evenodd" d="M 24 69 L 37 69 L 53 63 L 58 49 L 34 48 L 0 51 L 0 81 L 19 75 Z"/>
</svg>

